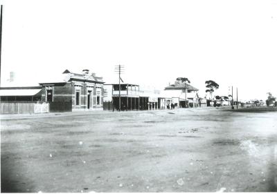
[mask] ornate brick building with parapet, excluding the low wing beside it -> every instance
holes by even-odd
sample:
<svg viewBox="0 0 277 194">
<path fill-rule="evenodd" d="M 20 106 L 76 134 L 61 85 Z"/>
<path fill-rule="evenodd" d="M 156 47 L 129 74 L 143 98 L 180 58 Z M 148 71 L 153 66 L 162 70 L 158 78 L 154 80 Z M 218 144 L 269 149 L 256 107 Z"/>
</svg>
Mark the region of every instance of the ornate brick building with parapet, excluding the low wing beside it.
<svg viewBox="0 0 277 194">
<path fill-rule="evenodd" d="M 81 74 L 65 70 L 60 81 L 39 85 L 42 86 L 42 101 L 56 103 L 56 106 L 63 103 L 75 111 L 102 108 L 104 83 L 102 77 L 89 73 L 89 70 L 83 70 Z"/>
</svg>

